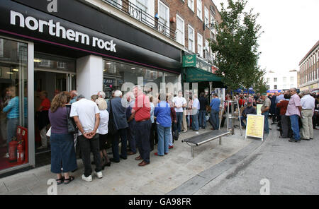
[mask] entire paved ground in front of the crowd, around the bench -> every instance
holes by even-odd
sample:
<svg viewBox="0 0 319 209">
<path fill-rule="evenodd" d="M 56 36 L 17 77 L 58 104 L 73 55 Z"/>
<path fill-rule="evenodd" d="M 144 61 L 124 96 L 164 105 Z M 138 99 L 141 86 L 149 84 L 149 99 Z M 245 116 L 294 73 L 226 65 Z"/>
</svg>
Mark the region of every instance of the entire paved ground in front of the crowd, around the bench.
<svg viewBox="0 0 319 209">
<path fill-rule="evenodd" d="M 200 129 L 199 134 L 211 131 Z M 195 148 L 181 143 L 182 139 L 196 135 L 196 131 L 181 133 L 179 141 L 164 157 L 150 154 L 150 165 L 138 167 L 138 155 L 112 163 L 103 170 L 103 178 L 93 181 L 81 179 L 82 160 L 75 177 L 68 185 L 57 185 L 57 194 L 121 194 L 121 195 L 173 195 L 173 194 L 259 194 L 262 179 L 268 179 L 271 194 L 319 193 L 319 131 L 313 141 L 289 143 L 279 139 L 276 125 L 262 142 L 257 138 L 245 139 L 235 129 L 235 135 L 223 137 Z M 94 168 L 94 165 L 92 165 Z M 31 169 L 0 179 L 0 194 L 47 194 L 47 181 L 55 179 L 50 165 Z"/>
</svg>

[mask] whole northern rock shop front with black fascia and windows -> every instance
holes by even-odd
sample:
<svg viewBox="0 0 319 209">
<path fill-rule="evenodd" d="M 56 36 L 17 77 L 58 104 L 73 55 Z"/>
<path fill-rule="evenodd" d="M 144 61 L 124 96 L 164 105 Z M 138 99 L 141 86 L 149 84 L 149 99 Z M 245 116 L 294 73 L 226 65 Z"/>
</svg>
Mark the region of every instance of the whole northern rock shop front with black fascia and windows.
<svg viewBox="0 0 319 209">
<path fill-rule="evenodd" d="M 79 1 L 59 5 L 74 9 L 52 16 L 47 4 L 1 1 L 0 175 L 35 167 L 50 152 L 38 123 L 43 95 L 103 90 L 109 98 L 137 84 L 150 93 L 181 89 L 179 49 Z"/>
</svg>

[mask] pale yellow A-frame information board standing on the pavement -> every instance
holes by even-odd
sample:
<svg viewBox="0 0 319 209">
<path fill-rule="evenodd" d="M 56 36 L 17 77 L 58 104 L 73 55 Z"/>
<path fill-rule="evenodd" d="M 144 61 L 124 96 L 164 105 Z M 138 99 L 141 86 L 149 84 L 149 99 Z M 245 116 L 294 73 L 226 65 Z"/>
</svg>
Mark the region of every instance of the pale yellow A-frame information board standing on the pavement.
<svg viewBox="0 0 319 209">
<path fill-rule="evenodd" d="M 264 116 L 257 114 L 247 115 L 246 136 L 262 138 L 264 141 Z"/>
</svg>

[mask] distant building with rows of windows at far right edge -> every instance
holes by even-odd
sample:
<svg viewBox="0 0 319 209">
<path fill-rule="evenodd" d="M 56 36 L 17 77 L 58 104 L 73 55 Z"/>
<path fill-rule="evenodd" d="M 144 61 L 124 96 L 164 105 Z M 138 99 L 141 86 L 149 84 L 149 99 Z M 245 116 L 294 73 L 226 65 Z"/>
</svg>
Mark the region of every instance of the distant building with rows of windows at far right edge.
<svg viewBox="0 0 319 209">
<path fill-rule="evenodd" d="M 299 63 L 300 89 L 319 88 L 319 41 Z"/>
</svg>

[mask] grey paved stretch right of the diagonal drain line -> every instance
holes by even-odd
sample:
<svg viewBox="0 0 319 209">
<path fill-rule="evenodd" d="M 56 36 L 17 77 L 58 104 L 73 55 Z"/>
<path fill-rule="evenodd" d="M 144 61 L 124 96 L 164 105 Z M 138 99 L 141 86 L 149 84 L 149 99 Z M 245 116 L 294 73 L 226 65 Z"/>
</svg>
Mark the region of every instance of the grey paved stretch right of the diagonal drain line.
<svg viewBox="0 0 319 209">
<path fill-rule="evenodd" d="M 272 125 L 267 140 L 244 160 L 194 192 L 196 195 L 318 195 L 319 131 L 291 143 Z M 267 182 L 267 189 L 266 187 Z"/>
</svg>

